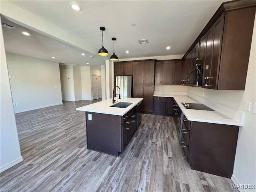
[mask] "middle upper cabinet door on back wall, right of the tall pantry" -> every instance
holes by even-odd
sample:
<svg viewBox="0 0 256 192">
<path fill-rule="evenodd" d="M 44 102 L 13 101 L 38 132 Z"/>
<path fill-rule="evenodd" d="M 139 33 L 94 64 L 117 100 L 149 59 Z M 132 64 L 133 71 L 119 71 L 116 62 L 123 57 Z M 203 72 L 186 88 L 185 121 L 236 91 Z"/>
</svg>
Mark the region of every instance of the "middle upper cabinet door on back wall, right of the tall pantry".
<svg viewBox="0 0 256 192">
<path fill-rule="evenodd" d="M 174 84 L 174 61 L 164 61 L 162 63 L 162 85 Z"/>
</svg>

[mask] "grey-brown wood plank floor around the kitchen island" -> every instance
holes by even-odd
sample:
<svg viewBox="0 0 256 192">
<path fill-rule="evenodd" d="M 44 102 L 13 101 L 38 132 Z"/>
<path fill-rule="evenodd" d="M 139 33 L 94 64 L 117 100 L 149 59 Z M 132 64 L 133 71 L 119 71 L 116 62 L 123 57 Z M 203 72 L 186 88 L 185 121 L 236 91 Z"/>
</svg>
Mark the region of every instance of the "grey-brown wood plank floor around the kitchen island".
<svg viewBox="0 0 256 192">
<path fill-rule="evenodd" d="M 16 114 L 24 161 L 1 173 L 1 192 L 238 192 L 190 169 L 172 117 L 143 114 L 119 157 L 87 150 L 85 113 L 75 109 L 97 101 Z"/>
</svg>

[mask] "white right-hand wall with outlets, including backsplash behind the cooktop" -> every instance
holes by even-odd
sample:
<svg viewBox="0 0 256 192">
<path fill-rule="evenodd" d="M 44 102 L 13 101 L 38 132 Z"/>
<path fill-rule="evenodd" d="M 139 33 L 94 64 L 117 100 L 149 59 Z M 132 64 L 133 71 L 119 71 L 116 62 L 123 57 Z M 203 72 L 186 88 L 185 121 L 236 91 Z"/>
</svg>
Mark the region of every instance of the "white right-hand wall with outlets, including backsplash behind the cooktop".
<svg viewBox="0 0 256 192">
<path fill-rule="evenodd" d="M 255 55 L 256 20 L 254 22 L 246 87 L 244 91 L 209 90 L 199 87 L 188 87 L 188 92 L 191 94 L 245 113 L 244 126 L 239 129 L 234 172 L 232 176 L 232 180 L 235 184 L 256 184 L 256 114 L 252 112 L 253 104 L 256 102 Z M 249 112 L 245 110 L 246 102 L 251 102 Z M 255 192 L 255 189 L 246 189 L 242 191 Z"/>
</svg>

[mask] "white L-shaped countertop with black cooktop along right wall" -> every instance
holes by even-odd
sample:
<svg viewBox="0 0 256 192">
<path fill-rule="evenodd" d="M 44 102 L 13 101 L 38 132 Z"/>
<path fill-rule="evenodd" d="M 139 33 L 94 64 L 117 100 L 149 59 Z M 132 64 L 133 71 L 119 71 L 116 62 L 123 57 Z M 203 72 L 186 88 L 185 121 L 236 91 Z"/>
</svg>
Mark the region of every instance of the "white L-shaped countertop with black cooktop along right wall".
<svg viewBox="0 0 256 192">
<path fill-rule="evenodd" d="M 163 92 L 154 92 L 154 96 L 157 97 L 173 97 L 177 102 L 178 106 L 190 121 L 207 122 L 225 125 L 243 126 L 242 122 L 238 122 L 218 111 L 207 111 L 207 110 L 195 110 L 186 109 L 181 103 L 200 103 L 186 95 L 175 94 L 175 92 L 165 94 Z M 207 106 L 207 105 L 206 105 Z M 210 107 L 211 108 L 211 107 Z M 214 110 L 214 109 L 213 109 Z"/>
</svg>

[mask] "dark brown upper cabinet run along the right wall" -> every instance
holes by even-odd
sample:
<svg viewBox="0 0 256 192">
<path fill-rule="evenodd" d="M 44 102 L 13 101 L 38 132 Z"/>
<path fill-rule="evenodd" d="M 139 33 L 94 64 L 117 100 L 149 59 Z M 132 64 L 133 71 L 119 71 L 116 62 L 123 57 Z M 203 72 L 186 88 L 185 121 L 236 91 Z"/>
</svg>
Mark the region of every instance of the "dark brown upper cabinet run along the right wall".
<svg viewBox="0 0 256 192">
<path fill-rule="evenodd" d="M 255 1 L 222 3 L 184 54 L 189 70 L 203 65 L 203 88 L 245 89 L 255 10 Z"/>
</svg>

